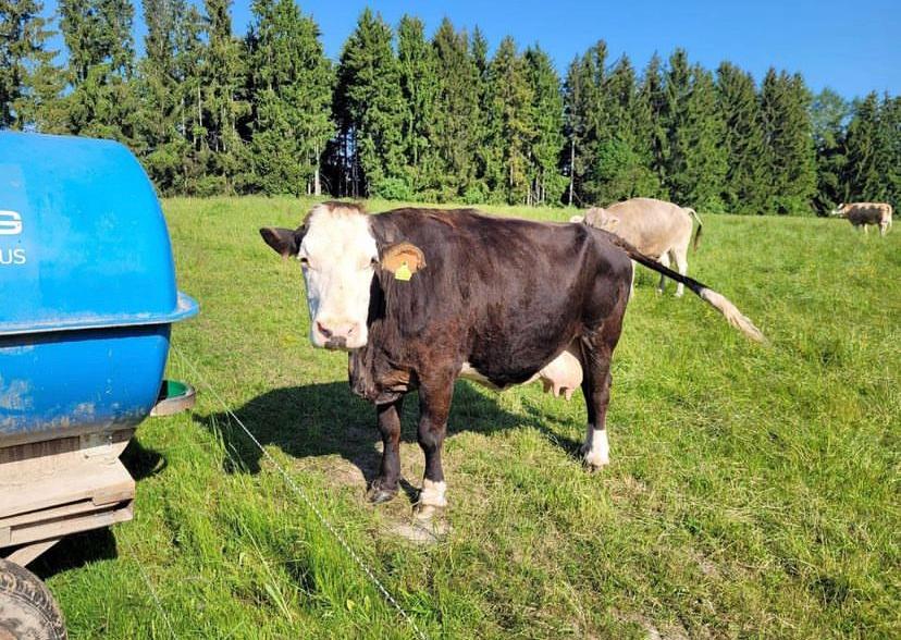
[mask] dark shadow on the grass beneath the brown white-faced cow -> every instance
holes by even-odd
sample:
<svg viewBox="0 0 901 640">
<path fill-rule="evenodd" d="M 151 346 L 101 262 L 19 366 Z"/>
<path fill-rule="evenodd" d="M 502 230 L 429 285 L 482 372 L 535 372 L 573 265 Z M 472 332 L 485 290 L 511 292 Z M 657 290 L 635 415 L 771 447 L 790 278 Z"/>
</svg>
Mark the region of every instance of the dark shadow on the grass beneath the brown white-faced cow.
<svg viewBox="0 0 901 640">
<path fill-rule="evenodd" d="M 563 402 L 563 401 L 560 401 Z M 582 402 L 581 397 L 573 402 Z M 404 402 L 402 434 L 404 442 L 415 443 L 419 416 L 416 393 Z M 346 382 L 309 384 L 269 391 L 235 409 L 235 415 L 262 445 L 274 444 L 295 457 L 337 454 L 356 466 L 372 482 L 379 473 L 381 442 L 375 426 L 375 409 L 356 397 Z M 233 424 L 225 413 L 194 419 L 213 433 L 221 434 L 231 459 L 226 460 L 230 472 L 257 473 L 261 453 L 244 431 Z M 548 427 L 551 416 L 538 408 L 526 406 L 522 414 L 513 414 L 498 406 L 496 398 L 480 393 L 468 382 L 458 382 L 454 391 L 447 434 L 471 431 L 491 434 L 517 427 L 532 427 L 550 441 L 576 456 L 578 442 L 560 438 Z M 415 496 L 417 490 L 404 487 Z"/>
</svg>

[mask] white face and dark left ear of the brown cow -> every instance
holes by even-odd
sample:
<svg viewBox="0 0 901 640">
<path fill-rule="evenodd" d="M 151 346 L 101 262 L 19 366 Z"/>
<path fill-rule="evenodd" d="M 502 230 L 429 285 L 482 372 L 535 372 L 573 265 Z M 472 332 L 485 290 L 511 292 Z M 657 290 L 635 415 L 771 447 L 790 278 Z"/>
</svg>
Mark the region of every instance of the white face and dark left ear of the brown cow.
<svg viewBox="0 0 901 640">
<path fill-rule="evenodd" d="M 379 262 L 369 216 L 351 207 L 320 205 L 296 231 L 260 233 L 277 253 L 300 261 L 313 346 L 365 346 L 370 286 Z"/>
</svg>

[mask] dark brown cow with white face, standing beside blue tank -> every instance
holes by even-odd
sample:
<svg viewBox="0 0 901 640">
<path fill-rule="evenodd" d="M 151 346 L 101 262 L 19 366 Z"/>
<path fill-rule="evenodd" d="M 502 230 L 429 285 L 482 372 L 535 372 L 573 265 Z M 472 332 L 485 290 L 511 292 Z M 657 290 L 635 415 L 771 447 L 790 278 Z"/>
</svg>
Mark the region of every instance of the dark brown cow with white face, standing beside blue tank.
<svg viewBox="0 0 901 640">
<path fill-rule="evenodd" d="M 609 461 L 610 357 L 629 299 L 632 260 L 684 283 L 754 340 L 720 294 L 584 224 L 491 218 L 473 210 L 395 209 L 369 216 L 328 202 L 296 230 L 261 229 L 301 264 L 314 346 L 349 352 L 353 391 L 375 405 L 384 442 L 368 499 L 397 494 L 400 407 L 419 391 L 425 473 L 417 505 L 446 505 L 441 464 L 454 381 L 497 390 L 578 378 L 588 407 L 584 461 Z M 578 373 L 575 369 L 578 368 Z"/>
</svg>

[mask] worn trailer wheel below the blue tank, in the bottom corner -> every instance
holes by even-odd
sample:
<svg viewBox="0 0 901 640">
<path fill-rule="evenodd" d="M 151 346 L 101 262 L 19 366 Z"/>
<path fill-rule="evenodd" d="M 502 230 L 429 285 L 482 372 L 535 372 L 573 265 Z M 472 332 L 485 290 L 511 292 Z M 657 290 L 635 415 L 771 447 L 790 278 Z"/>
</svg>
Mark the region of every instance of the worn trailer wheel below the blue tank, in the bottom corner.
<svg viewBox="0 0 901 640">
<path fill-rule="evenodd" d="M 65 621 L 32 571 L 0 558 L 0 640 L 65 640 Z"/>
</svg>

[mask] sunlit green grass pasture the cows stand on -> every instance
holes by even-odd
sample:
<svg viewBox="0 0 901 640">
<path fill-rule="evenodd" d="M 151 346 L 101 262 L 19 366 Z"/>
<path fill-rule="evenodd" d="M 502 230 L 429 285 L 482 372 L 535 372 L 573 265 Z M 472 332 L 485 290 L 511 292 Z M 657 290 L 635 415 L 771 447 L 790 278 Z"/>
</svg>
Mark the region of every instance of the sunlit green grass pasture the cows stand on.
<svg viewBox="0 0 901 640">
<path fill-rule="evenodd" d="M 173 344 L 203 380 L 176 354 L 170 376 L 200 396 L 126 452 L 135 520 L 37 563 L 72 638 L 415 637 L 205 381 L 431 638 L 901 637 L 901 227 L 704 216 L 690 274 L 772 344 L 640 272 L 614 358 L 612 465 L 591 475 L 576 457 L 581 392 L 458 382 L 450 506 L 422 541 L 416 403 L 407 491 L 372 507 L 373 410 L 346 356 L 309 345 L 299 269 L 257 234 L 308 207 L 164 204 L 180 287 L 202 306 Z"/>
</svg>

